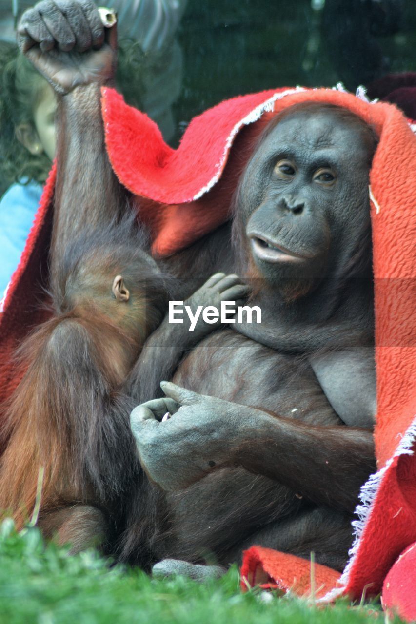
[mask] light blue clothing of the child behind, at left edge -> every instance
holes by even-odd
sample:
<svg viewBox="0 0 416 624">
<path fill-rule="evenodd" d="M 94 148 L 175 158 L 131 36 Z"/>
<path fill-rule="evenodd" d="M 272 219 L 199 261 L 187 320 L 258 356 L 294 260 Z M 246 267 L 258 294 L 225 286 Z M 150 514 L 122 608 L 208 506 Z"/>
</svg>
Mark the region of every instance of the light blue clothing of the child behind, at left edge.
<svg viewBox="0 0 416 624">
<path fill-rule="evenodd" d="M 42 195 L 38 182 L 13 184 L 0 201 L 0 298 L 17 266 Z"/>
</svg>

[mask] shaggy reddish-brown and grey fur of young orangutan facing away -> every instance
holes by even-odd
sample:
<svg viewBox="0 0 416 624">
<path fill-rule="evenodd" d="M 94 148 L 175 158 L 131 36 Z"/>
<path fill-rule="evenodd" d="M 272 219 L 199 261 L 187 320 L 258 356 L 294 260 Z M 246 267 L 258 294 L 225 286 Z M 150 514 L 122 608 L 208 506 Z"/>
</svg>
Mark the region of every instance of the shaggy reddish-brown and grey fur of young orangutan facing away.
<svg viewBox="0 0 416 624">
<path fill-rule="evenodd" d="M 18 528 L 34 509 L 41 466 L 42 515 L 75 502 L 111 515 L 137 478 L 132 402 L 121 384 L 162 318 L 166 286 L 143 244 L 131 218 L 73 241 L 55 273 L 54 316 L 17 353 L 25 372 L 1 432 L 0 508 Z M 111 292 L 117 273 L 129 301 Z"/>
</svg>

